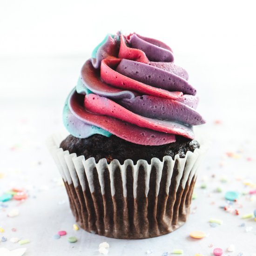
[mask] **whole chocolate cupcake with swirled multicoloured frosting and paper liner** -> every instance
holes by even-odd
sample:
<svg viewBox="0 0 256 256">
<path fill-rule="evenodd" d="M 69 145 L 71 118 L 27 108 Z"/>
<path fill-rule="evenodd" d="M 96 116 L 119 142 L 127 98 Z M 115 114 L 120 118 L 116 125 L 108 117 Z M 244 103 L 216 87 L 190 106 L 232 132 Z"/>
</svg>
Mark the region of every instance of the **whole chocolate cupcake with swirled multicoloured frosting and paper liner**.
<svg viewBox="0 0 256 256">
<path fill-rule="evenodd" d="M 205 121 L 188 73 L 159 40 L 109 34 L 67 97 L 66 139 L 48 144 L 81 228 L 102 236 L 161 236 L 186 222 L 205 152 Z"/>
</svg>

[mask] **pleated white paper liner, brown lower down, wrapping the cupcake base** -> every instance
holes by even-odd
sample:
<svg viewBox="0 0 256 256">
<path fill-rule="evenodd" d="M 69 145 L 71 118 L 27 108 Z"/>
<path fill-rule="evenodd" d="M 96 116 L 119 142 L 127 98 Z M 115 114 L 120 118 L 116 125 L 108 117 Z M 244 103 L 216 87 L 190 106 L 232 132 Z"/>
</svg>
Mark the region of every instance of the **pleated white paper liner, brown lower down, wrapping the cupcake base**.
<svg viewBox="0 0 256 256">
<path fill-rule="evenodd" d="M 121 239 L 161 236 L 182 226 L 197 168 L 205 153 L 201 145 L 185 158 L 152 158 L 151 164 L 69 154 L 53 136 L 48 148 L 61 173 L 76 222 L 88 232 Z"/>
</svg>

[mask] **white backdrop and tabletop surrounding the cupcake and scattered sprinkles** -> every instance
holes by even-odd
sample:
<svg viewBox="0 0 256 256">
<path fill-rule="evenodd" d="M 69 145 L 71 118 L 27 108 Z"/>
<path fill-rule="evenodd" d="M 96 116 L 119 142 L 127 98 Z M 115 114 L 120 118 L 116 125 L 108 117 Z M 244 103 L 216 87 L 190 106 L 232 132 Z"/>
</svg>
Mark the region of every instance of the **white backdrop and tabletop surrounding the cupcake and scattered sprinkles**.
<svg viewBox="0 0 256 256">
<path fill-rule="evenodd" d="M 23 186 L 30 195 L 21 206 L 8 203 L 9 208 L 20 209 L 15 219 L 0 210 L 3 235 L 30 238 L 27 256 L 99 255 L 98 244 L 105 240 L 111 246 L 110 256 L 145 255 L 148 249 L 161 256 L 179 248 L 185 256 L 196 252 L 208 256 L 214 247 L 225 250 L 231 243 L 236 244 L 232 255 L 256 253 L 256 222 L 219 209 L 225 204 L 225 191 L 248 191 L 245 179 L 256 183 L 255 10 L 249 0 L 0 0 L 0 174 L 4 175 L 0 193 Z M 172 47 L 175 62 L 187 69 L 200 97 L 198 111 L 207 124 L 199 131 L 212 141 L 195 189 L 195 213 L 174 233 L 142 241 L 108 239 L 82 230 L 74 233 L 65 190 L 56 185 L 59 175 L 45 147 L 47 136 L 63 129 L 63 103 L 82 64 L 107 33 L 118 30 Z M 216 120 L 221 124 L 216 125 Z M 230 151 L 239 157 L 228 158 L 225 153 Z M 222 175 L 228 179 L 225 184 L 220 182 Z M 202 183 L 207 189 L 200 189 Z M 222 187 L 221 194 L 214 193 L 216 187 Z M 241 215 L 256 208 L 254 197 L 243 196 L 241 203 Z M 210 228 L 210 217 L 224 224 Z M 240 228 L 242 222 L 253 231 Z M 10 231 L 13 226 L 19 229 L 15 235 Z M 60 229 L 77 236 L 78 243 L 53 240 Z M 188 234 L 195 229 L 209 236 L 192 241 Z M 9 240 L 0 247 L 20 248 Z"/>
</svg>

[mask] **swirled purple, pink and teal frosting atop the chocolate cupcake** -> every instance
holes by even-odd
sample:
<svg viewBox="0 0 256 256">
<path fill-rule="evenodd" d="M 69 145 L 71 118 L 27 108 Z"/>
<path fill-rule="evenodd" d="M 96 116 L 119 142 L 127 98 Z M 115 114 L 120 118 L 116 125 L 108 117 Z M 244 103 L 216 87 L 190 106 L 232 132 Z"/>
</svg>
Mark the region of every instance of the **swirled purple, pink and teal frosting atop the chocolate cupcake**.
<svg viewBox="0 0 256 256">
<path fill-rule="evenodd" d="M 194 138 L 205 123 L 195 110 L 196 90 L 173 63 L 173 51 L 139 34 L 108 35 L 85 62 L 67 97 L 63 121 L 71 135 L 116 135 L 141 145 Z"/>
</svg>

